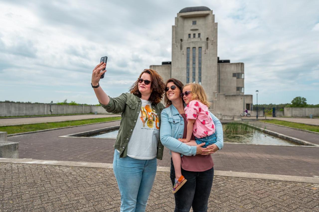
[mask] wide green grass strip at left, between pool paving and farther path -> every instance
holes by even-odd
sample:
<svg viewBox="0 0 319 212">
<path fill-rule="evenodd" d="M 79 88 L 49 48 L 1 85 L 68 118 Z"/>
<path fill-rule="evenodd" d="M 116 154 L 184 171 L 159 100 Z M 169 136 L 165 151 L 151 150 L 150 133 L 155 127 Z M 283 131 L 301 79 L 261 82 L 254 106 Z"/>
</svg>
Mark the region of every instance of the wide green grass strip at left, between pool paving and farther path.
<svg viewBox="0 0 319 212">
<path fill-rule="evenodd" d="M 64 121 L 64 122 L 21 124 L 21 125 L 14 125 L 14 126 L 3 126 L 3 127 L 0 127 L 0 131 L 7 132 L 9 135 L 13 133 L 31 132 L 31 131 L 37 131 L 37 130 L 53 129 L 58 127 L 77 126 L 82 124 L 93 124 L 93 123 L 114 121 L 114 120 L 120 120 L 120 119 L 121 117 L 107 117 L 107 118 L 93 118 L 93 119 L 83 119 L 83 120 Z"/>
</svg>

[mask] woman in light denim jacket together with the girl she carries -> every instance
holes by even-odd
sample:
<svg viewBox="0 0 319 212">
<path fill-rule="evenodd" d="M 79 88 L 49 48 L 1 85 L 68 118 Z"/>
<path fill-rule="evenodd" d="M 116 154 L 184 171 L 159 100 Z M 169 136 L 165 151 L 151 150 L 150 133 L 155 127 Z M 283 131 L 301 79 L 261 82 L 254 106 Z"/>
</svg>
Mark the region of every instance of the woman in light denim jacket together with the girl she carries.
<svg viewBox="0 0 319 212">
<path fill-rule="evenodd" d="M 207 211 L 214 176 L 210 154 L 223 147 L 222 125 L 208 111 L 201 85 L 183 86 L 181 81 L 169 79 L 165 91 L 168 107 L 161 112 L 160 139 L 172 151 L 170 177 L 175 212 L 191 207 L 193 211 Z"/>
</svg>

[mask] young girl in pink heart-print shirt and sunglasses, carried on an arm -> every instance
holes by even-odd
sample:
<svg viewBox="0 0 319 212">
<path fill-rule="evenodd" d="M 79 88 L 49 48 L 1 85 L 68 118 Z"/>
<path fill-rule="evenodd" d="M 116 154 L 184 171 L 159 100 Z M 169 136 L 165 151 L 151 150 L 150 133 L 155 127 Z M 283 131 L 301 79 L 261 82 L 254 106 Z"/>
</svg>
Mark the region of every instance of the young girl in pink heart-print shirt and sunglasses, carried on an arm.
<svg viewBox="0 0 319 212">
<path fill-rule="evenodd" d="M 181 142 L 187 145 L 196 146 L 205 143 L 202 147 L 216 143 L 215 124 L 211 119 L 208 111 L 210 103 L 207 101 L 207 95 L 204 88 L 195 83 L 186 84 L 182 88 L 181 96 L 187 104 L 185 107 L 185 115 L 187 118 L 187 136 L 186 139 L 179 138 Z M 191 140 L 194 134 L 196 140 Z M 181 155 L 177 152 L 172 152 L 172 159 L 175 169 L 175 185 L 173 194 L 176 193 L 187 181 L 181 172 Z"/>
</svg>

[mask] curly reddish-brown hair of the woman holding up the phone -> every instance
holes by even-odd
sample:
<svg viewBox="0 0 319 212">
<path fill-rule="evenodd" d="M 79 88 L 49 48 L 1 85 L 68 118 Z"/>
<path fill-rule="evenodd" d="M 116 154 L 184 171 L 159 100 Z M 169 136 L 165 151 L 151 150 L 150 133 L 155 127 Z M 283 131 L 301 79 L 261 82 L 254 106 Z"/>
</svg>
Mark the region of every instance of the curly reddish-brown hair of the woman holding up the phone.
<svg viewBox="0 0 319 212">
<path fill-rule="evenodd" d="M 163 82 L 163 78 L 156 71 L 152 69 L 144 69 L 144 71 L 142 71 L 142 73 L 139 75 L 138 78 L 141 78 L 142 74 L 144 73 L 148 73 L 151 75 L 152 93 L 148 101 L 150 101 L 152 104 L 158 104 L 162 100 L 163 94 L 165 92 L 164 91 L 165 84 Z M 138 80 L 134 82 L 134 84 L 130 88 L 130 93 L 140 98 L 142 97 L 141 92 L 138 90 Z"/>
</svg>

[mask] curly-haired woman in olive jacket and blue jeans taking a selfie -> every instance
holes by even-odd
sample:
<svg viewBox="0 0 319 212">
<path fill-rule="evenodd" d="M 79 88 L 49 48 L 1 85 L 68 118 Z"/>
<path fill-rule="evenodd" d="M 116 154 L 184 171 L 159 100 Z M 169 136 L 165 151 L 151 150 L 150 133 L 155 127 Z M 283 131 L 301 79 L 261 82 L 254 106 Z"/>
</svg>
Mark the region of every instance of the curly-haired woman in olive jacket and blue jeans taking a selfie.
<svg viewBox="0 0 319 212">
<path fill-rule="evenodd" d="M 162 77 L 144 69 L 130 93 L 111 98 L 99 86 L 105 63 L 93 69 L 92 87 L 101 106 L 108 112 L 121 113 L 115 141 L 114 175 L 121 193 L 121 211 L 145 211 L 155 179 L 157 160 L 163 157 L 159 139 L 160 103 L 164 94 Z"/>
</svg>

